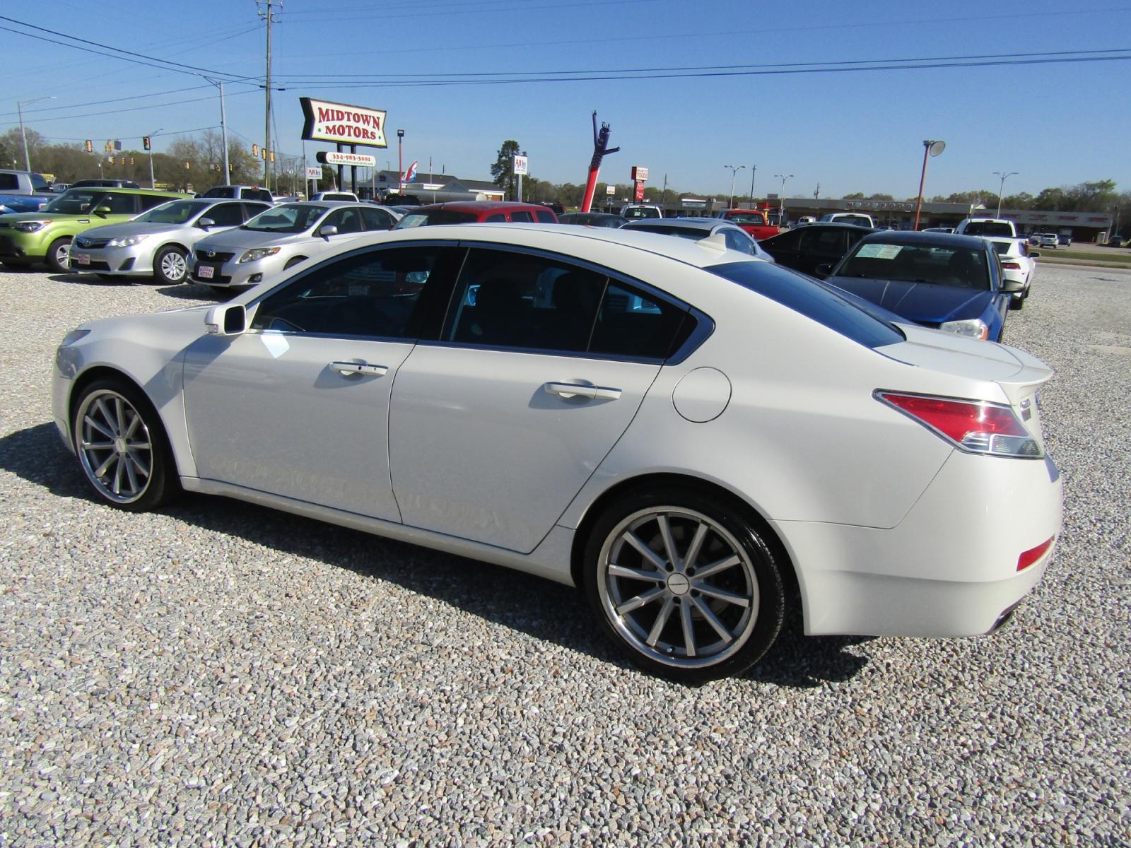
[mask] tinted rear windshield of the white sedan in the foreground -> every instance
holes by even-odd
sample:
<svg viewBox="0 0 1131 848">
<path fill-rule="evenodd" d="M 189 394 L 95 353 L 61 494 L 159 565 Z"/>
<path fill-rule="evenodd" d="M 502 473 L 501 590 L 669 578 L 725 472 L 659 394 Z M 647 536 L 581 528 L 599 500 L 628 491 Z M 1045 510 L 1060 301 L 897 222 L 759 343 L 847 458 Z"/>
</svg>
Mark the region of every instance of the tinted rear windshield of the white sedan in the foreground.
<svg viewBox="0 0 1131 848">
<path fill-rule="evenodd" d="M 904 340 L 904 335 L 888 320 L 890 313 L 886 310 L 869 309 L 863 301 L 849 301 L 831 286 L 787 268 L 769 262 L 727 262 L 709 266 L 706 270 L 777 301 L 865 347 Z"/>
</svg>

